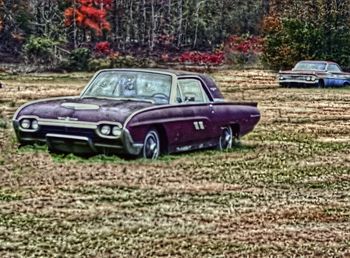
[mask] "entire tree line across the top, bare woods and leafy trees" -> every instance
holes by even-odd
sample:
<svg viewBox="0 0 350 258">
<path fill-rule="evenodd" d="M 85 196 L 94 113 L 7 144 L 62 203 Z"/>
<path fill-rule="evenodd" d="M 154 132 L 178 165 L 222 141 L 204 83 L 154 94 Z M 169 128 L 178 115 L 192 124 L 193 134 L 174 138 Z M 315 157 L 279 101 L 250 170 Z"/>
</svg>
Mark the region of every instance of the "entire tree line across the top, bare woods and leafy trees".
<svg viewBox="0 0 350 258">
<path fill-rule="evenodd" d="M 349 10 L 350 0 L 0 0 L 0 57 L 21 56 L 28 42 L 69 51 L 108 42 L 152 57 L 255 35 L 276 69 L 306 58 L 350 66 Z"/>
</svg>

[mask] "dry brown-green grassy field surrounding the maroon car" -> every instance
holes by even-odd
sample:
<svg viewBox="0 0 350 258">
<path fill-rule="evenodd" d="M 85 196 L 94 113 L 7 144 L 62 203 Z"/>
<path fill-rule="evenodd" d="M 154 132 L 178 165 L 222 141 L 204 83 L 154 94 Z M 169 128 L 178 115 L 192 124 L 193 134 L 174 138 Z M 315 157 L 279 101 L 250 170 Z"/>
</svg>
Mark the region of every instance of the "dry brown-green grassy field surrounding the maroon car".
<svg viewBox="0 0 350 258">
<path fill-rule="evenodd" d="M 350 256 L 350 89 L 213 74 L 262 121 L 228 152 L 158 161 L 18 150 L 11 114 L 89 74 L 0 75 L 0 256 Z"/>
</svg>

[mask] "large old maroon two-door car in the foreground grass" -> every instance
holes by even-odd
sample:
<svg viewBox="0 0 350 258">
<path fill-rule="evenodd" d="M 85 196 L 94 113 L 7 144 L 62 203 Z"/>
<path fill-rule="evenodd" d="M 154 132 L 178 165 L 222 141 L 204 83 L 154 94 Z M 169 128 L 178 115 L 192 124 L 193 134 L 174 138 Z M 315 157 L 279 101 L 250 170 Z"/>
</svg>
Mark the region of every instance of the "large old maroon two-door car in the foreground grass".
<svg viewBox="0 0 350 258">
<path fill-rule="evenodd" d="M 22 106 L 13 125 L 21 144 L 154 159 L 161 153 L 228 149 L 259 119 L 256 103 L 226 102 L 206 75 L 112 69 L 96 73 L 80 96 Z"/>
</svg>

